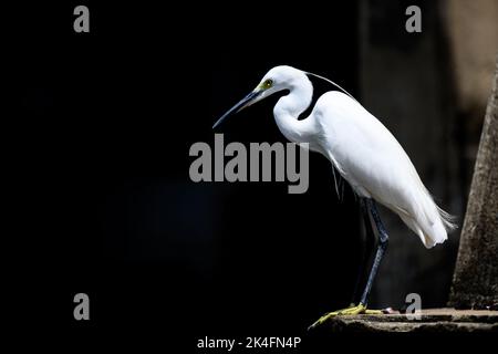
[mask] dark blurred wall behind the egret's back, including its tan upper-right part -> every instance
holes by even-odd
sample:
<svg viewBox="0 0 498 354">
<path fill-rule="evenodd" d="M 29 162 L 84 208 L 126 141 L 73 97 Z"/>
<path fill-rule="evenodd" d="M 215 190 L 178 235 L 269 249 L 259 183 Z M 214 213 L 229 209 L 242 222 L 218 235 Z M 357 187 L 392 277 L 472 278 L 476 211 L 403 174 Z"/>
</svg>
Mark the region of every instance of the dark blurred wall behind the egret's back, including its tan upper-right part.
<svg viewBox="0 0 498 354">
<path fill-rule="evenodd" d="M 457 216 L 461 228 L 491 91 L 498 2 L 417 3 L 422 33 L 408 34 L 400 13 L 413 1 L 360 1 L 361 97 L 397 137 L 426 187 Z M 372 304 L 397 305 L 409 292 L 422 295 L 423 306 L 444 304 L 459 230 L 443 247 L 427 251 L 415 236 L 403 237 L 407 231 L 396 216 L 383 212 L 383 218 L 393 237 Z"/>
</svg>

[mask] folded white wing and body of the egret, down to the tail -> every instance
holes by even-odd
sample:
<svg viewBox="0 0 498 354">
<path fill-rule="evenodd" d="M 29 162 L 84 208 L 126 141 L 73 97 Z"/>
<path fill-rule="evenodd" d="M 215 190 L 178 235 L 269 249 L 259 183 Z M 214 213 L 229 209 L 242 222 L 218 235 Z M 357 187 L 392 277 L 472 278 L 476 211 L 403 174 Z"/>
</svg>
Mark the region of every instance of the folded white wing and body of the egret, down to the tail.
<svg viewBox="0 0 498 354">
<path fill-rule="evenodd" d="M 447 220 L 424 187 L 408 156 L 362 105 L 329 92 L 312 112 L 322 127 L 321 144 L 353 189 L 398 214 L 427 247 L 446 239 Z"/>
</svg>

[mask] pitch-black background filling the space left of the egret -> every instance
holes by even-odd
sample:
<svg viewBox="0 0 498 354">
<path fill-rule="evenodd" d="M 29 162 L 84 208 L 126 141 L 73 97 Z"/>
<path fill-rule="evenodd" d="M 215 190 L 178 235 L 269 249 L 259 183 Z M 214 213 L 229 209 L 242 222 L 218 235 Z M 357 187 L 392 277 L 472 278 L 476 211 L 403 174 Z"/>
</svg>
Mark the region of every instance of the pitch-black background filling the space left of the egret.
<svg viewBox="0 0 498 354">
<path fill-rule="evenodd" d="M 191 144 L 212 145 L 212 123 L 274 65 L 357 95 L 356 3 L 321 3 L 86 1 L 90 33 L 73 31 L 80 3 L 22 10 L 18 201 L 29 237 L 14 294 L 25 305 L 41 292 L 37 321 L 76 341 L 145 333 L 189 352 L 206 335 L 307 336 L 350 302 L 360 215 L 347 186 L 335 195 L 324 158 L 310 156 L 303 195 L 188 176 Z M 232 117 L 226 143 L 284 142 L 276 100 Z M 73 319 L 79 292 L 89 322 Z"/>
</svg>

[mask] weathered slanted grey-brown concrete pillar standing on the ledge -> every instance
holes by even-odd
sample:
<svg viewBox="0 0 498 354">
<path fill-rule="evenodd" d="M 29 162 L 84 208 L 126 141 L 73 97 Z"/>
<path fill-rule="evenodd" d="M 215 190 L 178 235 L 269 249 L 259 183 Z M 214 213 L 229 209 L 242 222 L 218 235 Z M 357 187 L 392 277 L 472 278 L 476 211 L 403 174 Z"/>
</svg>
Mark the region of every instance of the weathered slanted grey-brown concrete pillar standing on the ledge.
<svg viewBox="0 0 498 354">
<path fill-rule="evenodd" d="M 449 305 L 498 306 L 498 59 L 461 230 Z"/>
</svg>

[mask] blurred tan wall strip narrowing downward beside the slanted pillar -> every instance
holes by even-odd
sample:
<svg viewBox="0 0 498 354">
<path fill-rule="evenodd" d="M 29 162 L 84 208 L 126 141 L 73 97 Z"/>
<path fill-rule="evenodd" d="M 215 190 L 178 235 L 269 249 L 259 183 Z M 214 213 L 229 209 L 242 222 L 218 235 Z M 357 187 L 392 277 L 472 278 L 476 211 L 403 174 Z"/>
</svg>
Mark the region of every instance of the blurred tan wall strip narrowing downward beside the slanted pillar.
<svg viewBox="0 0 498 354">
<path fill-rule="evenodd" d="M 498 1 L 446 0 L 440 11 L 454 81 L 454 118 L 463 140 L 460 156 L 468 186 L 498 53 Z"/>
</svg>

